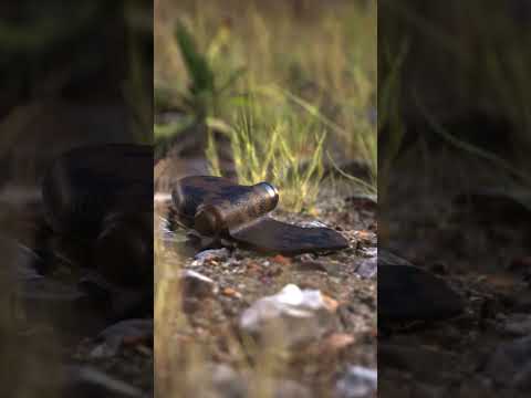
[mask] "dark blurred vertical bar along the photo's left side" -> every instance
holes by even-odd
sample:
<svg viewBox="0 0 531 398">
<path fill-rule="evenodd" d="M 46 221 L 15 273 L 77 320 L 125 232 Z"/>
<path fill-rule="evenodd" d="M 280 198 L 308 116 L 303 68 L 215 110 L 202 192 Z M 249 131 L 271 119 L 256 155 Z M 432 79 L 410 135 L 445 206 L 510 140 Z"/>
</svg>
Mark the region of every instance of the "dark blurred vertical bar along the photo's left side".
<svg viewBox="0 0 531 398">
<path fill-rule="evenodd" d="M 2 1 L 0 81 L 2 396 L 149 396 L 153 2 Z"/>
</svg>

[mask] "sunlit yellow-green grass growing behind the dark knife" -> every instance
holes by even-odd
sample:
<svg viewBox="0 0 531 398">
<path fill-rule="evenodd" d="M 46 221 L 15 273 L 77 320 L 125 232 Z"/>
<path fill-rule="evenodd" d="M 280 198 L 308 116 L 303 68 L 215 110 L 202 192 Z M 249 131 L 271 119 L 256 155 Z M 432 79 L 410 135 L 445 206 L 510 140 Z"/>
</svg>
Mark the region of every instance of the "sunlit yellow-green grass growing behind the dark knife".
<svg viewBox="0 0 531 398">
<path fill-rule="evenodd" d="M 358 158 L 369 166 L 375 191 L 376 2 L 317 4 L 302 19 L 289 4 L 231 2 L 230 17 L 212 1 L 163 4 L 156 105 L 222 126 L 242 184 L 269 179 L 283 192 L 282 207 L 311 210 L 324 160 Z M 156 125 L 156 140 L 180 128 Z M 207 156 L 219 174 L 210 144 Z"/>
</svg>

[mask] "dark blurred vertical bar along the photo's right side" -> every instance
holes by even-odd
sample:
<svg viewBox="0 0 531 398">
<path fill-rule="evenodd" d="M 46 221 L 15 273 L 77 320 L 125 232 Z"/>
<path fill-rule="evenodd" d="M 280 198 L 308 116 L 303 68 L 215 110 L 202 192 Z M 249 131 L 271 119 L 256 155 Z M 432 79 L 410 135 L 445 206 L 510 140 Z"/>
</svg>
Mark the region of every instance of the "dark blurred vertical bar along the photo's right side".
<svg viewBox="0 0 531 398">
<path fill-rule="evenodd" d="M 379 397 L 531 390 L 530 6 L 379 2 Z"/>
</svg>

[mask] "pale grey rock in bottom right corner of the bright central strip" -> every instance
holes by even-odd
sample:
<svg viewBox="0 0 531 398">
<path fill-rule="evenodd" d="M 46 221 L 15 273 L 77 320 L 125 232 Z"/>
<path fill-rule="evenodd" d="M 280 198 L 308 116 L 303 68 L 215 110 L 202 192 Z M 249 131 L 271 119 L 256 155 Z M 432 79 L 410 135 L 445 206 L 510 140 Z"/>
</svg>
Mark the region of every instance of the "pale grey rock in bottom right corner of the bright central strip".
<svg viewBox="0 0 531 398">
<path fill-rule="evenodd" d="M 376 396 L 377 371 L 362 366 L 350 366 L 335 386 L 337 398 L 371 398 Z"/>
</svg>

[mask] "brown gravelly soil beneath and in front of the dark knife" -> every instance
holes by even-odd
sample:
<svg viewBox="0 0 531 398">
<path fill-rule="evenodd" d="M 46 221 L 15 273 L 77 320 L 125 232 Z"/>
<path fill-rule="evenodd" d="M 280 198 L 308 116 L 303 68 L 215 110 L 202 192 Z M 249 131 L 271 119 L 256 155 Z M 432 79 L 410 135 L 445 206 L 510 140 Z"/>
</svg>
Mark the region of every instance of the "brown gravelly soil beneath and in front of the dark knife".
<svg viewBox="0 0 531 398">
<path fill-rule="evenodd" d="M 156 272 L 158 285 L 165 279 L 174 277 L 176 269 L 180 269 L 208 277 L 211 289 L 209 287 L 208 294 L 205 294 L 197 286 L 201 283 L 191 283 L 191 287 L 185 287 L 183 310 L 187 317 L 186 326 L 183 326 L 183 323 L 171 326 L 170 320 L 167 318 L 157 320 L 159 326 L 156 327 L 164 328 L 164 335 L 168 339 L 167 344 L 160 343 L 163 350 L 169 349 L 170 341 L 176 336 L 181 336 L 190 344 L 202 347 L 206 362 L 200 365 L 201 367 L 226 366 L 235 371 L 237 376 L 230 381 L 232 387 L 242 378 L 260 380 L 269 377 L 266 373 L 261 375 L 263 366 L 260 360 L 263 358 L 261 359 L 260 355 L 254 357 L 256 362 L 251 360 L 251 365 L 241 364 L 241 350 L 244 353 L 248 346 L 243 344 L 244 334 L 238 327 L 239 318 L 256 301 L 278 293 L 288 284 L 295 284 L 301 289 L 319 290 L 329 303 L 332 303 L 333 311 L 324 333 L 298 344 L 296 349 L 288 350 L 288 359 L 282 360 L 282 371 L 273 373 L 272 383 L 279 386 L 275 394 L 281 397 L 290 396 L 282 395 L 289 394 L 283 391 L 290 391 L 290 388 L 284 388 L 284 384 L 290 383 L 303 394 L 294 396 L 348 396 L 345 395 L 348 392 L 344 391 L 345 387 L 341 384 L 342 379 L 345 381 L 348 369 L 352 370 L 354 366 L 361 369 L 376 369 L 377 226 L 374 202 L 364 197 L 339 196 L 337 191 L 323 189 L 312 216 L 274 211 L 273 217 L 279 220 L 302 227 L 323 223 L 340 231 L 348 240 L 348 248 L 342 251 L 283 256 L 262 255 L 229 242 L 226 248 L 214 251 L 191 248 L 189 231 L 181 228 L 168 231 L 168 202 L 165 202 L 164 198 L 165 193 L 160 192 L 160 201 L 156 205 L 155 224 L 162 231 L 159 235 L 164 247 L 164 263 L 170 265 Z M 316 221 L 319 223 L 315 223 Z M 174 300 L 175 296 L 171 294 L 175 293 L 167 294 L 166 302 Z M 296 327 L 296 322 L 293 327 Z M 233 338 L 237 342 L 237 349 L 228 348 L 230 344 L 227 343 L 227 331 L 231 331 L 229 334 L 236 336 Z M 290 329 L 284 331 L 280 335 L 280 342 L 277 341 L 274 344 L 282 345 L 290 336 Z M 247 353 L 243 356 L 246 355 L 252 357 L 257 354 Z M 171 358 L 167 358 L 167 362 L 171 362 Z M 162 368 L 165 366 L 169 367 L 168 364 L 160 365 Z M 164 379 L 162 375 L 163 373 L 160 377 Z M 202 383 L 214 383 L 216 386 L 215 375 L 216 373 L 208 374 L 207 380 Z M 171 375 L 167 377 L 170 378 Z M 364 387 L 360 387 L 365 383 L 363 377 L 356 377 L 347 379 L 355 387 L 347 383 L 346 389 L 352 391 L 361 388 L 360 397 L 375 396 L 376 381 L 374 380 L 374 387 L 365 390 Z M 212 380 L 209 381 L 208 378 Z M 158 386 L 158 378 L 156 383 Z M 166 384 L 162 381 L 160 385 Z M 233 388 L 228 389 L 232 390 Z M 191 392 L 197 391 L 191 388 Z M 232 397 L 230 394 L 214 396 Z"/>
</svg>

